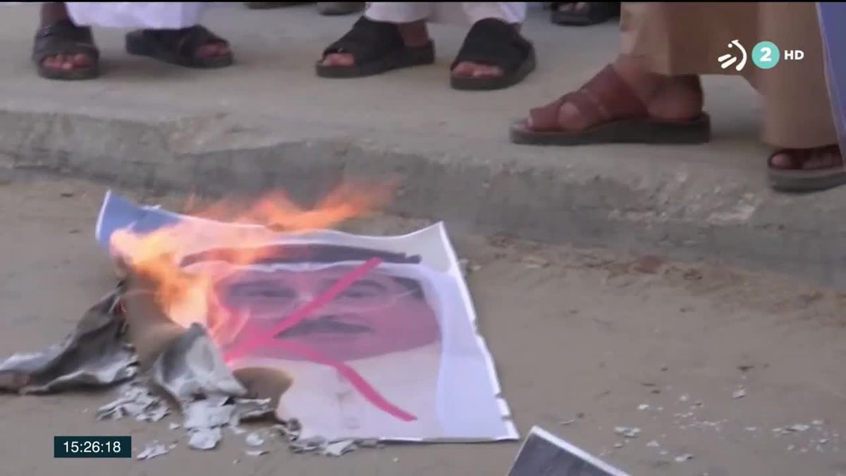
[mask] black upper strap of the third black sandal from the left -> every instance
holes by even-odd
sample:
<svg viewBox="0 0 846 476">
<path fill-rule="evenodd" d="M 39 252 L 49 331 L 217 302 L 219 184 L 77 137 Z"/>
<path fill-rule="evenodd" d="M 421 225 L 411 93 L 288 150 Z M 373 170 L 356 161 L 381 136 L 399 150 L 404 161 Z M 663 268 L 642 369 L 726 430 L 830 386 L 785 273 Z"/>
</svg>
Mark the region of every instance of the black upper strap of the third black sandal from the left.
<svg viewBox="0 0 846 476">
<path fill-rule="evenodd" d="M 332 53 L 349 53 L 355 64 L 364 64 L 387 53 L 403 48 L 403 37 L 396 24 L 387 21 L 373 21 L 362 16 L 353 27 L 323 51 L 323 58 Z"/>
</svg>

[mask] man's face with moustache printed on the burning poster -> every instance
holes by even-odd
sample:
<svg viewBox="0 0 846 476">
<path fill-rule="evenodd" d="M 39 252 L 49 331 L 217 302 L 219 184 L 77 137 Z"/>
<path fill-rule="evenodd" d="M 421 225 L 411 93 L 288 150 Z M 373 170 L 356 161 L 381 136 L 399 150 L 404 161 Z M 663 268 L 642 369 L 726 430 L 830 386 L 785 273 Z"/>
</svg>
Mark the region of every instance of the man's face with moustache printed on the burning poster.
<svg viewBox="0 0 846 476">
<path fill-rule="evenodd" d="M 320 299 L 353 268 L 248 269 L 228 275 L 217 284 L 216 292 L 229 316 L 245 320 L 244 329 L 261 332 Z M 348 361 L 426 346 L 440 339 L 440 330 L 416 280 L 376 268 L 276 338 Z M 283 350 L 261 351 L 264 355 L 268 352 L 298 357 Z"/>
</svg>

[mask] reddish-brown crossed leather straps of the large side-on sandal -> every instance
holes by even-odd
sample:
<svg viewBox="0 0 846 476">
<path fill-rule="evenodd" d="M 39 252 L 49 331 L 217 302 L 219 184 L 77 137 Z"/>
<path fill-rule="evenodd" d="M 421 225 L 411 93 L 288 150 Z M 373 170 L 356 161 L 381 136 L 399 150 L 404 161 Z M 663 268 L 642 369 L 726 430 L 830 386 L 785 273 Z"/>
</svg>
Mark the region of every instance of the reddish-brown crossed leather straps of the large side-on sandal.
<svg viewBox="0 0 846 476">
<path fill-rule="evenodd" d="M 615 119 L 648 116 L 646 105 L 610 64 L 585 83 L 540 108 L 530 110 L 533 130 L 560 130 L 558 114 L 565 102 L 572 103 L 588 124 L 599 125 Z"/>
</svg>

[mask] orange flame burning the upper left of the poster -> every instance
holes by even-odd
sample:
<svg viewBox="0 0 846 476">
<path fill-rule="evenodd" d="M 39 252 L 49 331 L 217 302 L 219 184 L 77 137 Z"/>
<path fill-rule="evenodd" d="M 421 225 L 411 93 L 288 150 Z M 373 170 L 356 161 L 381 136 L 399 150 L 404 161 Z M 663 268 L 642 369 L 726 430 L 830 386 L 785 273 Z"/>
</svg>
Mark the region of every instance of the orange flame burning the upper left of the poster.
<svg viewBox="0 0 846 476">
<path fill-rule="evenodd" d="M 263 225 L 263 228 L 250 227 L 248 230 L 232 226 L 214 229 L 214 246 L 235 251 L 228 259 L 235 265 L 232 268 L 236 268 L 266 258 L 263 253 L 267 253 L 268 248 L 262 245 L 272 239 L 272 231 L 304 233 L 332 228 L 345 220 L 375 211 L 387 201 L 391 191 L 390 185 L 344 184 L 309 210 L 300 208 L 282 192 L 272 192 L 240 212 L 234 202 L 223 200 L 200 213 L 192 213 L 192 216 L 235 224 Z M 178 258 L 191 249 L 201 233 L 203 231 L 198 228 L 197 221 L 189 219 L 145 235 L 118 230 L 111 238 L 113 250 L 131 272 L 151 283 L 162 311 L 183 327 L 193 323 L 208 324 L 210 313 L 221 310 L 212 289 L 221 276 L 188 273 L 179 267 Z M 210 305 L 218 309 L 210 309 Z M 220 327 L 223 326 L 209 329 L 213 338 L 225 337 L 219 335 Z"/>
</svg>

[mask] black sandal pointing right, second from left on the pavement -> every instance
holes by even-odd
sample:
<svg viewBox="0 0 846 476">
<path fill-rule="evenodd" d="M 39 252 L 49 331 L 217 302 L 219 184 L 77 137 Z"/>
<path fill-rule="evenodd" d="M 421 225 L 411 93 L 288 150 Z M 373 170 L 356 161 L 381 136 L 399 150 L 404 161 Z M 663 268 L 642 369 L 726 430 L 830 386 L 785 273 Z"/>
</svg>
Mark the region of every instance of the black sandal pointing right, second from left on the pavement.
<svg viewBox="0 0 846 476">
<path fill-rule="evenodd" d="M 224 68 L 233 63 L 232 53 L 211 58 L 197 58 L 200 47 L 228 42 L 201 25 L 181 30 L 135 30 L 126 34 L 126 52 L 156 58 L 186 68 Z"/>
</svg>

